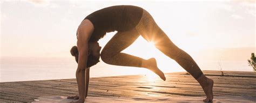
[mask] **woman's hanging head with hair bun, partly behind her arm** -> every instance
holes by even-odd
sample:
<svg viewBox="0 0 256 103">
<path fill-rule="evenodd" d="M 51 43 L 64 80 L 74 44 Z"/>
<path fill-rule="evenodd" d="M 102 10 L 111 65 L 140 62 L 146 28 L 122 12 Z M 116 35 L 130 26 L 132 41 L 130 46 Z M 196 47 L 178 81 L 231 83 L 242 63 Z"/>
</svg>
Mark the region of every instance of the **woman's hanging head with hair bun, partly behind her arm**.
<svg viewBox="0 0 256 103">
<path fill-rule="evenodd" d="M 88 50 L 88 56 L 87 56 L 87 68 L 92 67 L 93 65 L 97 64 L 99 62 L 100 57 L 100 49 L 102 47 L 99 46 L 99 43 L 97 41 L 95 42 L 89 42 L 89 50 Z M 70 50 L 70 53 L 72 56 L 75 56 L 76 62 L 78 63 L 78 57 L 79 52 L 77 46 L 73 46 Z"/>
</svg>

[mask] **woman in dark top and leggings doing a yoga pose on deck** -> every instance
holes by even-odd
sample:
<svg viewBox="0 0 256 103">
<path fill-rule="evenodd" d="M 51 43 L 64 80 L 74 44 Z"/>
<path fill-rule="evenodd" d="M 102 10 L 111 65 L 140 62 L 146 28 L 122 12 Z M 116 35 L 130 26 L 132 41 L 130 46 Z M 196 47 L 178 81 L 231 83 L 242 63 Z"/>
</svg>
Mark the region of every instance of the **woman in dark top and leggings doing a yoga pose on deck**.
<svg viewBox="0 0 256 103">
<path fill-rule="evenodd" d="M 107 32 L 113 31 L 117 31 L 117 33 L 99 53 L 101 47 L 97 41 L 103 38 Z M 77 47 L 74 46 L 71 49 L 72 56 L 75 56 L 76 62 L 78 62 L 76 78 L 79 96 L 69 98 L 79 98 L 74 102 L 84 101 L 88 91 L 89 68 L 99 62 L 99 56 L 107 64 L 149 69 L 165 80 L 164 73 L 158 69 L 154 58 L 144 60 L 137 56 L 120 53 L 129 47 L 139 35 L 149 42 L 154 42 L 157 49 L 189 72 L 203 88 L 207 97 L 204 101 L 212 101 L 213 80 L 204 75 L 190 55 L 174 45 L 146 10 L 131 5 L 110 6 L 95 11 L 79 25 Z"/>
</svg>

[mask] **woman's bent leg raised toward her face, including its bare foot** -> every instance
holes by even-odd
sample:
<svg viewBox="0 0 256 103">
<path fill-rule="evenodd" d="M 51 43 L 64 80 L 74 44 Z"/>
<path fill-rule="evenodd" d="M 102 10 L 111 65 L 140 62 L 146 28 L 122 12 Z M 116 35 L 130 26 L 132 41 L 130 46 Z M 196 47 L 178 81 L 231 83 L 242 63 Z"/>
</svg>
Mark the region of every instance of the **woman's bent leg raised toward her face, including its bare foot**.
<svg viewBox="0 0 256 103">
<path fill-rule="evenodd" d="M 150 68 L 147 67 L 147 65 L 142 65 L 142 63 L 156 63 L 154 59 L 144 60 L 137 56 L 121 53 L 125 48 L 129 47 L 139 35 L 135 28 L 130 31 L 117 32 L 113 38 L 107 42 L 102 53 L 100 53 L 102 61 L 112 65 L 147 68 L 156 73 L 161 79 L 165 80 L 164 73 L 158 68 Z"/>
</svg>

